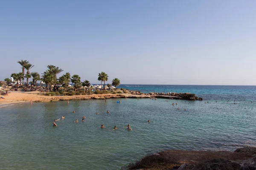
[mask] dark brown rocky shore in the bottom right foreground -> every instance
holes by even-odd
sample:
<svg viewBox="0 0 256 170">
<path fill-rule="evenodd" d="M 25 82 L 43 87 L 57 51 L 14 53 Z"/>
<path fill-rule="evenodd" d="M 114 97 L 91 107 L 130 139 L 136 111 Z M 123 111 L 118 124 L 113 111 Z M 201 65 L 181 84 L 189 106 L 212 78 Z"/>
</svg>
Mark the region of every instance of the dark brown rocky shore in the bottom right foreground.
<svg viewBox="0 0 256 170">
<path fill-rule="evenodd" d="M 165 150 L 122 170 L 256 170 L 256 147 L 231 151 Z"/>
</svg>

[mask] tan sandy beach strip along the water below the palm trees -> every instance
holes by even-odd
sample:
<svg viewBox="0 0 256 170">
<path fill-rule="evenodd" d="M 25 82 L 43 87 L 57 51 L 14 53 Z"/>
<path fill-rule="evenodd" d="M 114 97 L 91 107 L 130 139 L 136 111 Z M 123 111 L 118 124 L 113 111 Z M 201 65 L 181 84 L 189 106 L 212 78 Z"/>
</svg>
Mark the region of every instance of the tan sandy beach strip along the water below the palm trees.
<svg viewBox="0 0 256 170">
<path fill-rule="evenodd" d="M 8 96 L 2 96 L 0 105 L 10 105 L 25 102 L 52 102 L 61 100 L 88 100 L 88 99 L 110 99 L 110 98 L 150 98 L 149 95 L 134 94 L 92 94 L 92 95 L 76 95 L 76 96 L 46 96 L 45 93 L 35 92 L 19 92 L 12 91 Z"/>
</svg>

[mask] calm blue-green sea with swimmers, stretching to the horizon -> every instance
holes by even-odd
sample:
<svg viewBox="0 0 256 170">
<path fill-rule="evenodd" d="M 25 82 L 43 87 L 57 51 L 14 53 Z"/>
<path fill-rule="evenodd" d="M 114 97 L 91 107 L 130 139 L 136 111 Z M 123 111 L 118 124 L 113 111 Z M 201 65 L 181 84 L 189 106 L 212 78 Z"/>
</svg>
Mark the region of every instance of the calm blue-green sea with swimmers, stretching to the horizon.
<svg viewBox="0 0 256 170">
<path fill-rule="evenodd" d="M 120 170 L 129 162 L 163 150 L 256 147 L 256 86 L 118 88 L 143 93 L 186 92 L 204 100 L 73 100 L 69 104 L 59 101 L 2 107 L 0 169 Z M 60 119 L 57 127 L 53 127 L 54 119 Z M 132 130 L 127 130 L 128 124 Z M 113 130 L 115 125 L 118 129 Z"/>
</svg>

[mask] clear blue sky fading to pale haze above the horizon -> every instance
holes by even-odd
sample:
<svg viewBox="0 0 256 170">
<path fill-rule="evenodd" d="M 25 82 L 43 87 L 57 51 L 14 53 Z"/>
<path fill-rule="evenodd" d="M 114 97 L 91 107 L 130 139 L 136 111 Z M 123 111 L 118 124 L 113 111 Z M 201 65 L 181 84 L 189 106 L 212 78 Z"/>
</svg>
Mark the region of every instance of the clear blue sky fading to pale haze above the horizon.
<svg viewBox="0 0 256 170">
<path fill-rule="evenodd" d="M 91 83 L 256 85 L 256 1 L 0 0 L 0 80 L 21 59 Z"/>
</svg>

